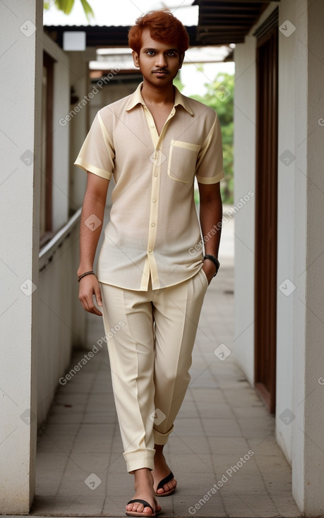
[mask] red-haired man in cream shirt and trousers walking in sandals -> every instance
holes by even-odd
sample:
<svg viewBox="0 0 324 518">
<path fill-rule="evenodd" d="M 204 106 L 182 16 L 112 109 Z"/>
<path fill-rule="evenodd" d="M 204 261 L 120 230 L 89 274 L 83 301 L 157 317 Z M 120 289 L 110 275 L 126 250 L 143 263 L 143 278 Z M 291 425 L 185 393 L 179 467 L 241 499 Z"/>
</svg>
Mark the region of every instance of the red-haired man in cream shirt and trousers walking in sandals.
<svg viewBox="0 0 324 518">
<path fill-rule="evenodd" d="M 108 349 L 124 458 L 135 478 L 126 514 L 154 517 L 156 496 L 176 488 L 163 447 L 190 380 L 203 297 L 219 267 L 224 172 L 217 115 L 173 85 L 188 49 L 184 26 L 169 11 L 153 11 L 136 20 L 128 42 L 143 83 L 98 112 L 76 160 L 88 171 L 78 280 L 83 308 L 103 313 L 106 334 L 121 323 Z M 195 176 L 208 257 L 199 244 Z"/>
</svg>

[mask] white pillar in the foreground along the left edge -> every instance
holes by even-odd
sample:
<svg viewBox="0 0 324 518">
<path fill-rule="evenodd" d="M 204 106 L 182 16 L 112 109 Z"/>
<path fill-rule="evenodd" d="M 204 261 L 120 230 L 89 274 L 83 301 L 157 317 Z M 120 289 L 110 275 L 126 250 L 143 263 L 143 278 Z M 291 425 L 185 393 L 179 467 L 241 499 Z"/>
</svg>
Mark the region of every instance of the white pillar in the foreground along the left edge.
<svg viewBox="0 0 324 518">
<path fill-rule="evenodd" d="M 0 2 L 0 512 L 35 492 L 42 0 Z"/>
</svg>

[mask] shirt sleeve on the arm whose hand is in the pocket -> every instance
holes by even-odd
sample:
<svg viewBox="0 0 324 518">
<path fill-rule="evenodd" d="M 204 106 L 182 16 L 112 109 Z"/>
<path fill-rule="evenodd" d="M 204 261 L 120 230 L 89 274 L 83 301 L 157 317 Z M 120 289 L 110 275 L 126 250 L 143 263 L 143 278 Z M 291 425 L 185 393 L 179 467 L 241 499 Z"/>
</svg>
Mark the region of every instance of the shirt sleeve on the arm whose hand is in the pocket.
<svg viewBox="0 0 324 518">
<path fill-rule="evenodd" d="M 224 178 L 222 133 L 217 115 L 212 128 L 200 148 L 196 165 L 199 183 L 218 183 Z"/>
</svg>

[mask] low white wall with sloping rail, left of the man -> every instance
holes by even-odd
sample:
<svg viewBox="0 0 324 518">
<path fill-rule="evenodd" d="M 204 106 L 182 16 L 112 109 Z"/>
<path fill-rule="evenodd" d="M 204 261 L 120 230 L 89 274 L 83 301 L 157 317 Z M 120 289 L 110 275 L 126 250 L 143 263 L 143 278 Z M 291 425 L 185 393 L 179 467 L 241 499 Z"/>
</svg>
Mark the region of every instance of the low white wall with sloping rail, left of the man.
<svg viewBox="0 0 324 518">
<path fill-rule="evenodd" d="M 85 342 L 85 311 L 78 301 L 79 209 L 40 251 L 38 285 L 38 426 L 52 403 L 73 347 Z"/>
</svg>

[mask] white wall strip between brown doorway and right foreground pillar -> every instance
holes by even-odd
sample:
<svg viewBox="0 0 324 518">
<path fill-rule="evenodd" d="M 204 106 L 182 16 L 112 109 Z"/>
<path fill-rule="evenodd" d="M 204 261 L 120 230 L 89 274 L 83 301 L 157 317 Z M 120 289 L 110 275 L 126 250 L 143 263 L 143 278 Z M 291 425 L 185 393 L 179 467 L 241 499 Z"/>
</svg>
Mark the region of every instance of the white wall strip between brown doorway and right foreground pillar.
<svg viewBox="0 0 324 518">
<path fill-rule="evenodd" d="M 285 0 L 279 6 L 279 26 L 286 20 L 296 25 L 295 0 Z M 289 37 L 278 32 L 279 43 L 279 106 L 278 157 L 295 146 L 295 46 L 296 32 Z M 284 157 L 284 156 L 283 156 Z M 296 162 L 278 159 L 278 212 L 277 212 L 277 286 L 294 282 L 294 179 Z M 284 295 L 277 289 L 277 442 L 288 461 L 292 462 L 292 426 L 282 419 L 282 413 L 293 408 L 293 354 L 294 354 L 294 294 Z"/>
</svg>

